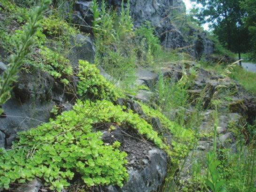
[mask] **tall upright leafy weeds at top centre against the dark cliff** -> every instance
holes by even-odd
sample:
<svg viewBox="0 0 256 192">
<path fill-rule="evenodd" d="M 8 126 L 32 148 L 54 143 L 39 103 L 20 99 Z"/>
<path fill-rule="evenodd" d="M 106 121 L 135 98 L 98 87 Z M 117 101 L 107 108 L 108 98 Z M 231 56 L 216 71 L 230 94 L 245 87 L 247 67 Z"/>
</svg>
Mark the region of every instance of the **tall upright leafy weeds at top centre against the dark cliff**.
<svg viewBox="0 0 256 192">
<path fill-rule="evenodd" d="M 93 31 L 96 37 L 95 63 L 101 65 L 127 91 L 135 81 L 136 61 L 135 47 L 131 44 L 132 20 L 128 9 L 129 2 L 128 8 L 126 10 L 122 8 L 120 13 L 122 16 L 118 17 L 116 12 L 109 9 L 102 0 L 99 16 L 94 19 L 97 28 Z"/>
</svg>

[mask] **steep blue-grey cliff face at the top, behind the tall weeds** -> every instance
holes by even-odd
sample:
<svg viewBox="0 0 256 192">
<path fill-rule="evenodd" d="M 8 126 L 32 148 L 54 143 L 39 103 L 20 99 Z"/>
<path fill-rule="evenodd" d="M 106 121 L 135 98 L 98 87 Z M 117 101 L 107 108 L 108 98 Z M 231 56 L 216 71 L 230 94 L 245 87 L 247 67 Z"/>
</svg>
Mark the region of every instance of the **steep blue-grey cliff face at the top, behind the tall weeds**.
<svg viewBox="0 0 256 192">
<path fill-rule="evenodd" d="M 73 22 L 80 25 L 81 30 L 85 32 L 91 32 L 90 25 L 93 19 L 90 11 L 91 2 L 90 0 L 78 0 L 75 3 Z M 107 0 L 107 3 L 120 11 L 121 0 Z M 99 0 L 99 4 L 101 4 L 101 0 Z M 124 7 L 127 7 L 126 2 L 124 2 Z M 166 49 L 193 45 L 185 50 L 196 58 L 200 58 L 202 54 L 213 53 L 214 44 L 204 32 L 185 26 L 190 31 L 188 34 L 182 34 L 174 25 L 173 18 L 186 13 L 186 7 L 182 0 L 130 0 L 130 12 L 134 27 L 140 27 L 141 24 L 149 21 L 155 28 L 161 45 Z M 191 34 L 193 34 L 192 39 L 185 40 L 185 36 L 190 37 Z"/>
</svg>

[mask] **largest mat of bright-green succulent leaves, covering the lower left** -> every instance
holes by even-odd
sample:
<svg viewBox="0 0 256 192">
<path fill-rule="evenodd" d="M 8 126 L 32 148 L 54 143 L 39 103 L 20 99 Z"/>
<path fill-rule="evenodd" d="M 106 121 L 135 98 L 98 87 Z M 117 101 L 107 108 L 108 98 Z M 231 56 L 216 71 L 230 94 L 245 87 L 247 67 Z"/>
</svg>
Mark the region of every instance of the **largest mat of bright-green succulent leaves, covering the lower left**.
<svg viewBox="0 0 256 192">
<path fill-rule="evenodd" d="M 0 157 L 0 188 L 39 177 L 51 190 L 60 192 L 75 175 L 80 175 L 88 187 L 122 187 L 128 177 L 124 168 L 126 154 L 114 149 L 118 148 L 117 142 L 104 145 L 102 133 L 91 131 L 93 123 L 124 121 L 116 112 L 122 114 L 122 109 L 107 101 L 78 101 L 73 110 L 57 116 L 55 121 L 18 133 L 14 148 L 3 150 Z"/>
</svg>

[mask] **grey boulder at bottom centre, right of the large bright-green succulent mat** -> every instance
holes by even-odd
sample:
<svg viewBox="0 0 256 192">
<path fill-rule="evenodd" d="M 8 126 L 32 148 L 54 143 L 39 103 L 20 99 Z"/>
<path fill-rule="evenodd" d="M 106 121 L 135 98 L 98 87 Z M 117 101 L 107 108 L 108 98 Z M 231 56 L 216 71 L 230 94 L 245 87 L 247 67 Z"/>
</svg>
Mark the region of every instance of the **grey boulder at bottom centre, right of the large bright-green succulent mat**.
<svg viewBox="0 0 256 192">
<path fill-rule="evenodd" d="M 132 101 L 127 101 L 132 103 Z M 126 104 L 127 104 L 126 103 Z M 134 108 L 131 107 L 131 108 Z M 136 110 L 139 110 L 137 106 Z M 140 112 L 141 113 L 141 112 Z M 96 126 L 96 127 L 102 127 Z M 167 172 L 167 157 L 166 154 L 145 141 L 134 130 L 122 127 L 115 131 L 102 131 L 102 140 L 105 143 L 112 144 L 116 140 L 121 143 L 120 150 L 125 151 L 128 156 L 127 171 L 129 180 L 122 188 L 116 186 L 107 186 L 94 188 L 94 191 L 99 192 L 155 192 L 163 183 Z"/>
</svg>

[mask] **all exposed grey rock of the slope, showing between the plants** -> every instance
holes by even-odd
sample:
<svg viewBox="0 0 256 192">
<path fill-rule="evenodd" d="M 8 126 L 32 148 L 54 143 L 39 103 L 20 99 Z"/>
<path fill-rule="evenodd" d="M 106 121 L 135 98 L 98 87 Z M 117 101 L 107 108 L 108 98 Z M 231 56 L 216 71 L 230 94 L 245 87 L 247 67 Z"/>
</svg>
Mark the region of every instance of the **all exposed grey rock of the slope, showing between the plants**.
<svg viewBox="0 0 256 192">
<path fill-rule="evenodd" d="M 86 0 L 78 0 L 75 3 L 72 19 L 74 23 L 81 24 L 81 30 L 91 33 L 91 19 L 90 2 Z M 119 0 L 109 0 L 109 3 L 115 7 L 120 8 Z M 69 8 L 69 6 L 67 6 Z M 156 34 L 161 39 L 161 44 L 166 49 L 174 49 L 184 46 L 189 46 L 191 41 L 184 40 L 184 34 L 171 23 L 171 14 L 173 9 L 177 9 L 178 12 L 185 13 L 185 7 L 180 0 L 131 0 L 131 15 L 134 20 L 135 26 L 145 21 L 150 21 L 152 26 L 156 28 Z M 0 13 L 1 14 L 1 13 Z M 2 16 L 2 15 L 1 15 Z M 202 54 L 211 54 L 214 49 L 214 45 L 204 33 L 197 33 L 196 30 L 191 29 L 190 33 L 193 34 L 192 41 L 194 46 L 187 51 L 199 58 Z M 87 60 L 93 63 L 95 48 L 93 46 L 92 34 L 85 36 L 84 34 L 78 34 L 74 38 L 70 39 L 72 49 L 67 56 L 70 60 L 70 64 L 74 71 L 78 70 L 78 60 Z M 75 46 L 79 44 L 79 46 Z M 2 73 L 7 67 L 8 53 L 0 48 L 1 59 L 0 73 Z M 161 68 L 163 77 L 168 77 L 177 82 L 181 77 L 183 66 L 186 66 L 186 73 L 189 74 L 189 69 L 194 67 L 194 63 L 171 63 Z M 153 103 L 157 95 L 154 93 L 154 85 L 157 83 L 159 73 L 156 73 L 151 68 L 138 68 L 136 70 L 136 84 L 145 85 L 148 90 L 139 90 L 135 96 L 129 95 L 130 99 L 118 100 L 117 104 L 125 106 L 131 109 L 134 114 L 140 115 L 141 118 L 146 119 L 152 124 L 155 131 L 163 133 L 163 138 L 167 140 L 167 143 L 171 143 L 171 133 L 166 133 L 163 128 L 163 124 L 158 118 L 149 118 L 144 114 L 140 105 L 135 102 L 139 100 L 142 102 Z M 226 79 L 222 81 L 224 77 L 217 74 L 206 71 L 202 68 L 197 68 L 197 75 L 194 79 L 193 86 L 190 87 L 188 92 L 190 97 L 198 97 L 200 92 L 205 88 L 206 94 L 204 100 L 204 110 L 202 115 L 204 119 L 200 126 L 200 134 L 198 146 L 195 150 L 196 158 L 206 156 L 209 146 L 212 145 L 210 138 L 203 137 L 204 133 L 212 131 L 213 122 L 210 114 L 213 109 L 208 107 L 211 101 L 216 100 L 215 93 L 220 92 L 217 97 L 222 100 L 222 107 L 220 109 L 221 115 L 219 116 L 218 126 L 218 139 L 219 147 L 232 148 L 235 152 L 235 137 L 233 132 L 229 130 L 228 126 L 230 122 L 242 126 L 246 122 L 252 122 L 255 119 L 256 112 L 256 99 L 254 96 L 245 92 L 238 84 L 233 80 Z M 101 75 L 106 78 L 112 78 L 101 69 Z M 75 87 L 77 84 L 77 77 L 72 77 L 73 81 L 70 86 Z M 225 90 L 219 91 L 218 87 L 225 86 Z M 231 100 L 225 100 L 225 96 L 231 94 Z M 19 74 L 17 83 L 14 84 L 12 98 L 5 103 L 2 108 L 4 114 L 0 116 L 0 147 L 8 148 L 11 146 L 12 141 L 16 139 L 16 133 L 18 131 L 26 131 L 30 128 L 36 127 L 41 123 L 48 122 L 52 117 L 51 110 L 54 105 L 60 108 L 60 112 L 71 110 L 76 94 L 69 92 L 66 87 L 58 80 L 54 79 L 47 72 L 40 69 L 33 70 L 33 73 L 27 73 L 22 71 Z M 153 98 L 153 99 L 152 99 Z M 228 112 L 226 111 L 228 109 Z M 194 110 L 193 104 L 186 109 L 187 116 Z M 166 109 L 163 111 L 166 116 L 171 120 L 175 120 L 177 111 Z M 149 119 L 148 119 L 149 118 Z M 152 142 L 142 137 L 137 131 L 130 129 L 129 127 L 117 128 L 115 131 L 109 130 L 108 123 L 102 123 L 95 125 L 95 130 L 103 133 L 102 140 L 105 144 L 113 144 L 114 141 L 121 143 L 120 150 L 128 154 L 128 164 L 126 166 L 129 174 L 129 180 L 124 184 L 121 189 L 117 186 L 107 187 L 95 187 L 91 188 L 96 192 L 155 192 L 163 184 L 164 178 L 168 171 L 168 165 L 170 159 L 168 155 L 161 149 L 157 148 Z M 192 153 L 192 152 L 191 152 Z M 189 153 L 188 156 L 191 155 Z M 203 155 L 202 155 L 203 154 Z M 188 158 L 189 160 L 189 158 Z M 185 166 L 186 169 L 181 173 L 181 180 L 189 182 L 189 175 L 187 170 L 189 166 Z M 78 181 L 79 183 L 79 181 Z M 83 188 L 83 185 L 72 185 L 69 192 L 73 192 L 72 187 Z M 42 184 L 39 179 L 34 179 L 29 182 L 28 185 L 22 185 L 20 187 L 13 187 L 11 190 L 20 192 L 39 192 L 41 189 L 47 191 L 47 187 Z M 0 189 L 1 191 L 1 189 Z"/>
</svg>

